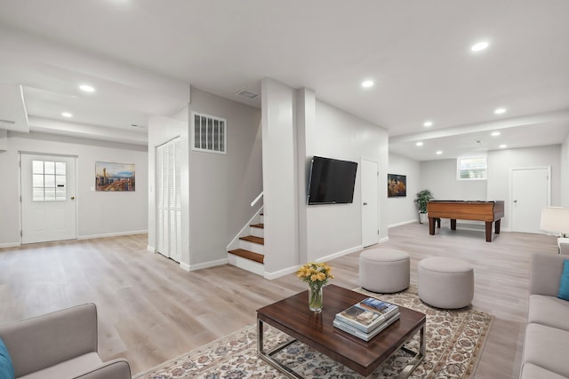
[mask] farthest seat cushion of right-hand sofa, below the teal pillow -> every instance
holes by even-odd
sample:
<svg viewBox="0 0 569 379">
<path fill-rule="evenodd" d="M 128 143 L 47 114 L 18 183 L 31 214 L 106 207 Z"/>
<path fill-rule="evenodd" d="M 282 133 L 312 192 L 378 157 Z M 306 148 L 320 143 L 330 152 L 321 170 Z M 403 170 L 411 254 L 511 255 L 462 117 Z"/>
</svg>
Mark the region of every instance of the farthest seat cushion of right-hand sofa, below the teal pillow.
<svg viewBox="0 0 569 379">
<path fill-rule="evenodd" d="M 569 331 L 569 301 L 553 296 L 531 295 L 527 322 Z"/>
</svg>

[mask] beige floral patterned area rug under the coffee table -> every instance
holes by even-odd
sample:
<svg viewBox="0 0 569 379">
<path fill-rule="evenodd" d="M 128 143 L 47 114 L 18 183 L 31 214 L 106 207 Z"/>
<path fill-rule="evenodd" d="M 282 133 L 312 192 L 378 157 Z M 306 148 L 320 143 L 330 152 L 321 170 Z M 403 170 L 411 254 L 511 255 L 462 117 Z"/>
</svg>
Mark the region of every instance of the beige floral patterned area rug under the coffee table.
<svg viewBox="0 0 569 379">
<path fill-rule="evenodd" d="M 357 291 L 427 315 L 427 354 L 413 371 L 412 378 L 469 378 L 474 375 L 492 324 L 490 314 L 470 307 L 453 311 L 430 307 L 421 302 L 417 296 L 417 288 L 413 285 L 404 292 L 392 295 L 368 293 L 362 288 L 358 288 Z M 286 340 L 287 336 L 275 328 L 270 328 L 267 324 L 265 327 L 267 350 Z M 418 346 L 419 336 L 406 344 L 406 347 L 413 351 L 417 351 Z M 291 344 L 277 353 L 274 358 L 292 367 L 305 378 L 362 377 L 303 343 Z M 378 367 L 372 376 L 383 378 L 397 375 L 409 359 L 408 355 L 399 351 Z M 257 335 L 254 325 L 134 376 L 135 379 L 284 377 L 276 368 L 257 358 Z"/>
</svg>

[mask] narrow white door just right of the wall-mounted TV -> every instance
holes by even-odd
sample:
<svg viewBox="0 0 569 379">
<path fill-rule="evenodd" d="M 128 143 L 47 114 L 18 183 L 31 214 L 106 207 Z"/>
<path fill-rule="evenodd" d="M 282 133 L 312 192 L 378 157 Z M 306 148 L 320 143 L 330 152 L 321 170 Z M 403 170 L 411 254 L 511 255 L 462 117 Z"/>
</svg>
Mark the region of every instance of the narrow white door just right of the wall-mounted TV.
<svg viewBox="0 0 569 379">
<path fill-rule="evenodd" d="M 380 233 L 379 164 L 362 159 L 362 245 L 378 243 Z"/>
</svg>

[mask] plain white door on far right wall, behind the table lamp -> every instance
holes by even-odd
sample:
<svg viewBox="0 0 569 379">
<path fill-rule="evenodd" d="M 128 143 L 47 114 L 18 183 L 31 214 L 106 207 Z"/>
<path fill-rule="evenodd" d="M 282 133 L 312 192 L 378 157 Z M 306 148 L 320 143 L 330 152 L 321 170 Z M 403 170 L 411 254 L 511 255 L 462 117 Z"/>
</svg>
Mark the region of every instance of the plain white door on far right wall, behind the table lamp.
<svg viewBox="0 0 569 379">
<path fill-rule="evenodd" d="M 541 233 L 541 209 L 549 206 L 547 167 L 512 170 L 512 232 Z"/>
</svg>

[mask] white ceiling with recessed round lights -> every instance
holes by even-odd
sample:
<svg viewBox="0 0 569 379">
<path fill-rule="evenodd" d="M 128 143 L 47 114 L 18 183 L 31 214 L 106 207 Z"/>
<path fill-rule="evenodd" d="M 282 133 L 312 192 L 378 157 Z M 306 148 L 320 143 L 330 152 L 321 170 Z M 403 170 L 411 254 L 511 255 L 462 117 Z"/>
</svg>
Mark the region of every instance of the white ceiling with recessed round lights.
<svg viewBox="0 0 569 379">
<path fill-rule="evenodd" d="M 0 0 L 0 84 L 23 86 L 30 130 L 144 143 L 131 125 L 179 110 L 188 83 L 260 107 L 236 92 L 268 76 L 388 129 L 394 153 L 443 159 L 561 143 L 567 14 L 567 0 Z"/>
</svg>

